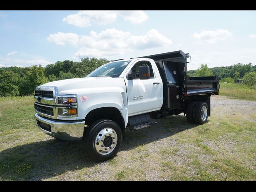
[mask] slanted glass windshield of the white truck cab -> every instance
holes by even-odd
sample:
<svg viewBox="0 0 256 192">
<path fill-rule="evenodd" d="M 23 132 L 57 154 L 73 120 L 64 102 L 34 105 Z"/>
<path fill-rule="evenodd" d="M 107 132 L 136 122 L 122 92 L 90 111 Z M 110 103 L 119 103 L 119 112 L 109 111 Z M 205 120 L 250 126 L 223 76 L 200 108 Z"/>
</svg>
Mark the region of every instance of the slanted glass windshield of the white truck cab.
<svg viewBox="0 0 256 192">
<path fill-rule="evenodd" d="M 108 76 L 108 77 L 119 77 L 126 66 L 131 61 L 117 61 L 110 62 L 98 67 L 96 70 L 91 72 L 87 77 L 98 77 L 98 76 Z"/>
</svg>

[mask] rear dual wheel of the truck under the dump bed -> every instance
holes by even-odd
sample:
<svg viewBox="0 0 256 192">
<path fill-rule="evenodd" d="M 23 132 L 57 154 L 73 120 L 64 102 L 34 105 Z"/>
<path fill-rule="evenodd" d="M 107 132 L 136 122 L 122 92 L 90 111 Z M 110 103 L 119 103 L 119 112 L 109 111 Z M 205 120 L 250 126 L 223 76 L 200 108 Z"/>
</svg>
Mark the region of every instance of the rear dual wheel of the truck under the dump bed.
<svg viewBox="0 0 256 192">
<path fill-rule="evenodd" d="M 194 121 L 198 124 L 206 123 L 208 119 L 208 105 L 205 102 L 198 102 L 194 106 L 193 117 Z"/>
</svg>

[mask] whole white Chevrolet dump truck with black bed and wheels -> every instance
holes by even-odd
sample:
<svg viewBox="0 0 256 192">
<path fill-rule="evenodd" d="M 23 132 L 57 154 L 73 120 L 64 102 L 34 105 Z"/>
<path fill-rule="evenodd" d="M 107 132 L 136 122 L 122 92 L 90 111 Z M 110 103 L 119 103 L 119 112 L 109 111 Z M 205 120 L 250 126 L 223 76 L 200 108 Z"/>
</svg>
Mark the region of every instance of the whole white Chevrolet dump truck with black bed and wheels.
<svg viewBox="0 0 256 192">
<path fill-rule="evenodd" d="M 173 114 L 203 124 L 218 76 L 188 77 L 189 54 L 168 52 L 104 64 L 85 78 L 49 82 L 35 89 L 38 128 L 60 140 L 84 141 L 94 160 L 112 158 L 127 129 L 146 128 Z"/>
</svg>

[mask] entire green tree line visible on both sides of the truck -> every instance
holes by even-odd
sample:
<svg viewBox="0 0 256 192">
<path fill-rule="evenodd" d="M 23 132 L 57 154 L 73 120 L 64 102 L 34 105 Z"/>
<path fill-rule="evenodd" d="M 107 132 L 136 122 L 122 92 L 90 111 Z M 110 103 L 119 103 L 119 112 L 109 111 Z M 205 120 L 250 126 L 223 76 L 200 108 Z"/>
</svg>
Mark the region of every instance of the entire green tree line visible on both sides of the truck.
<svg viewBox="0 0 256 192">
<path fill-rule="evenodd" d="M 110 61 L 87 57 L 81 59 L 81 62 L 64 60 L 48 64 L 46 67 L 0 68 L 0 96 L 31 95 L 39 85 L 56 80 L 86 77 L 94 69 L 107 62 Z M 201 64 L 200 68 L 190 70 L 187 74 L 188 76 L 218 75 L 223 82 L 233 82 L 243 78 L 244 82 L 256 84 L 256 65 L 252 66 L 251 63 L 214 68 L 208 68 L 207 64 Z"/>
</svg>

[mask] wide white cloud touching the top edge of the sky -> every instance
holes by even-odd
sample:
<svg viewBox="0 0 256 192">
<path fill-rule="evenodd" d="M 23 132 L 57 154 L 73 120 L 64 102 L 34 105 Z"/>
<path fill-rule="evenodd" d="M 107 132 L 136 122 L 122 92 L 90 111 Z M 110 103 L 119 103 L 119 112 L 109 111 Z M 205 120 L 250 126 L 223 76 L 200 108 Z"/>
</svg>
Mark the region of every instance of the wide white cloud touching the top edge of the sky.
<svg viewBox="0 0 256 192">
<path fill-rule="evenodd" d="M 148 15 L 144 11 L 79 11 L 62 19 L 62 21 L 77 27 L 92 26 L 92 23 L 99 25 L 111 24 L 116 21 L 118 16 L 124 18 L 126 22 L 132 24 L 140 24 L 148 19 Z"/>
</svg>

